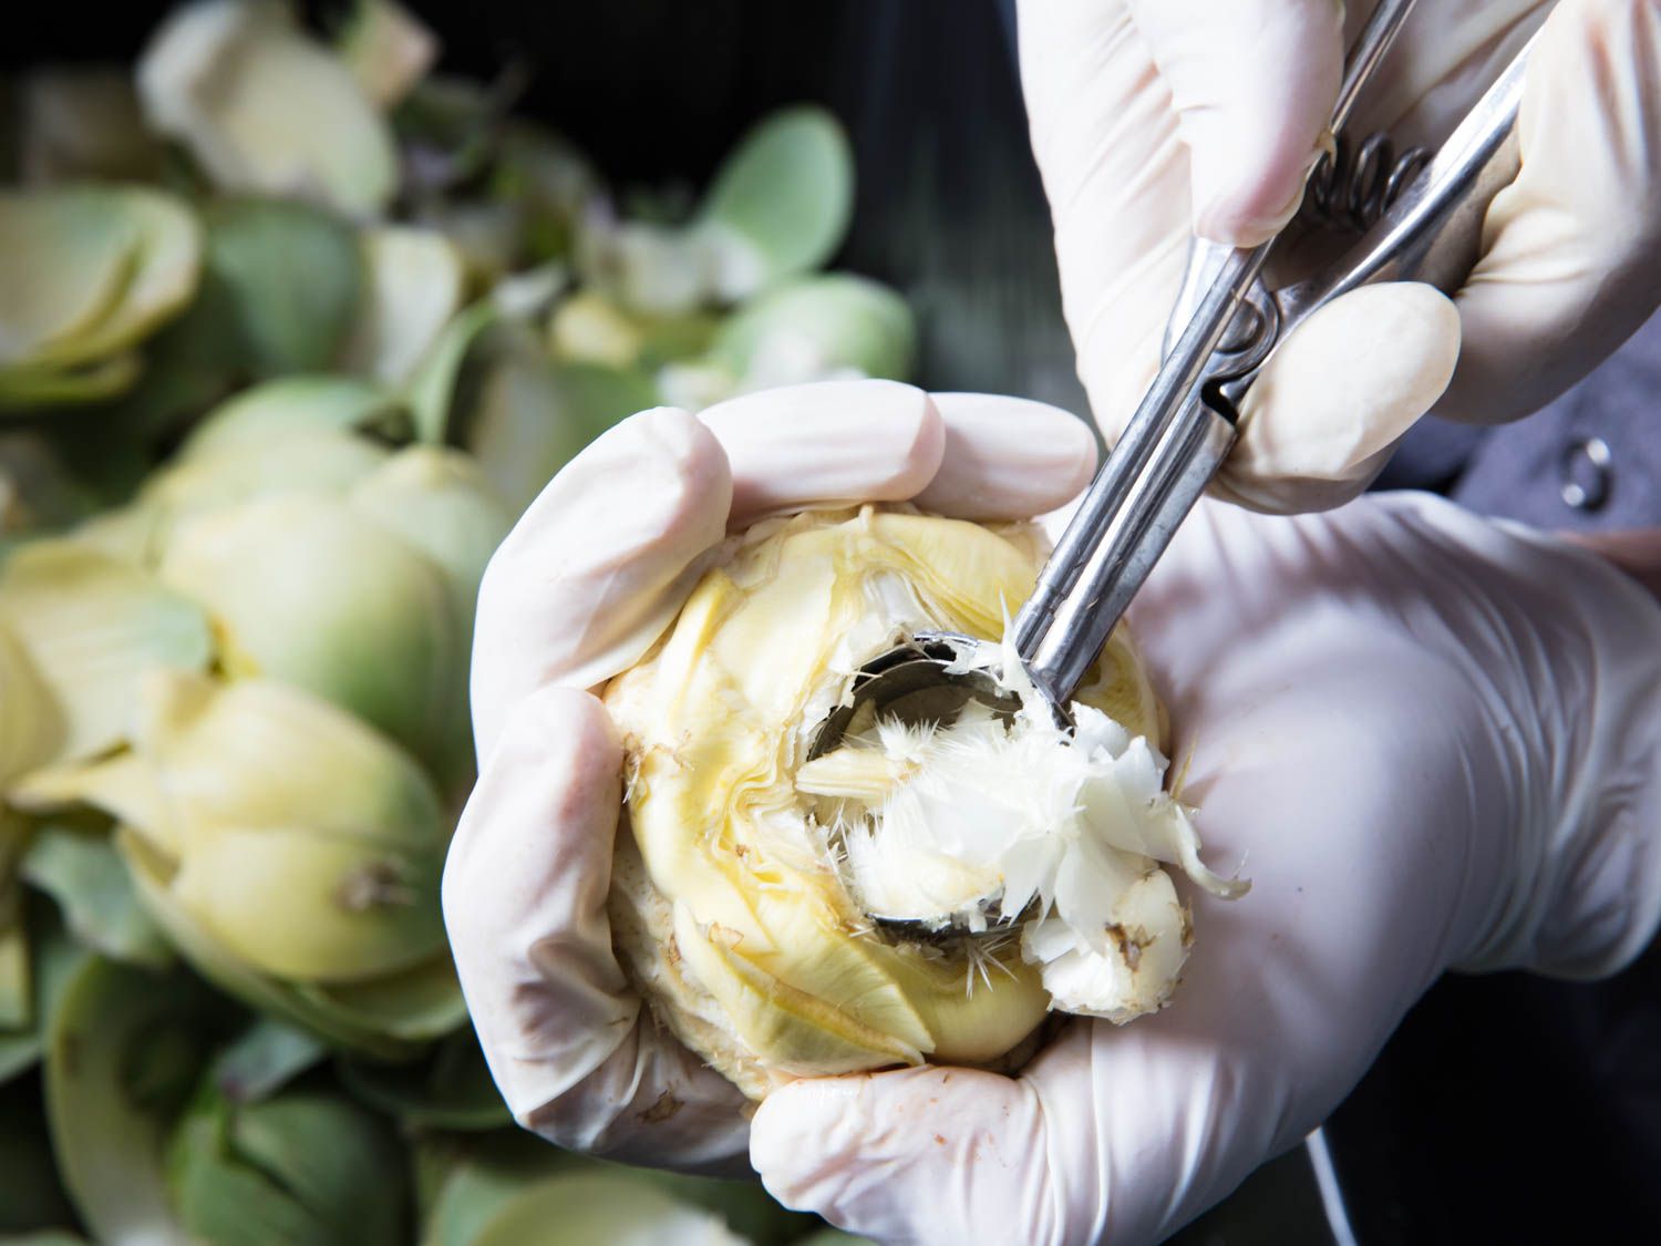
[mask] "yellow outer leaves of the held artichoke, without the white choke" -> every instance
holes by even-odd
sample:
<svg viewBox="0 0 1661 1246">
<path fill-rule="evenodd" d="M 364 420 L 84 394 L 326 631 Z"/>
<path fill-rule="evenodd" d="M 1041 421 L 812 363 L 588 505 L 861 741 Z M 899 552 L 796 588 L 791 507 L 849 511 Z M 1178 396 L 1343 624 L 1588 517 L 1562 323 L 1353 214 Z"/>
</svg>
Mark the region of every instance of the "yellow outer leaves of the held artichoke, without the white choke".
<svg viewBox="0 0 1661 1246">
<path fill-rule="evenodd" d="M 925 1058 L 997 1065 L 1051 1008 L 1050 957 L 1022 940 L 874 925 L 844 866 L 860 811 L 802 782 L 817 724 L 864 661 L 919 630 L 1000 636 L 1040 562 L 1026 525 L 874 507 L 766 522 L 729 545 L 646 661 L 608 686 L 628 758 L 611 897 L 625 964 L 669 1028 L 751 1096 L 791 1077 Z M 1123 630 L 1080 699 L 1128 738 L 1159 739 Z M 1181 817 L 1161 801 L 1161 816 Z M 1163 922 L 1129 952 L 1126 988 L 1138 987 L 1138 959 L 1144 977 L 1163 965 L 1174 979 L 1186 945 L 1186 914 L 1153 851 L 1116 859 L 1128 882 L 1153 887 Z M 1143 957 L 1154 939 L 1168 955 Z M 1139 984 L 1146 1007 L 1169 979 Z"/>
</svg>

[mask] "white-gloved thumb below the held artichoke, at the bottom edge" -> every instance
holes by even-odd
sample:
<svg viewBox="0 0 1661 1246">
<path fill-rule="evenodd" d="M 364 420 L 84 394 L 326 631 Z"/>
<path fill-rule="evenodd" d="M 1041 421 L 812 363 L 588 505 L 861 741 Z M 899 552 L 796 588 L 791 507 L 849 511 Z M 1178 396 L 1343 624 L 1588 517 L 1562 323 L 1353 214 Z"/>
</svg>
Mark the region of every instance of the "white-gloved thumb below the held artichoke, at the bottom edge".
<svg viewBox="0 0 1661 1246">
<path fill-rule="evenodd" d="M 1083 1156 L 1051 1170 L 1046 1145 L 1025 1082 L 907 1068 L 772 1091 L 751 1121 L 749 1160 L 786 1206 L 892 1246 L 1056 1243 L 1068 1224 L 1051 1180 Z"/>
</svg>

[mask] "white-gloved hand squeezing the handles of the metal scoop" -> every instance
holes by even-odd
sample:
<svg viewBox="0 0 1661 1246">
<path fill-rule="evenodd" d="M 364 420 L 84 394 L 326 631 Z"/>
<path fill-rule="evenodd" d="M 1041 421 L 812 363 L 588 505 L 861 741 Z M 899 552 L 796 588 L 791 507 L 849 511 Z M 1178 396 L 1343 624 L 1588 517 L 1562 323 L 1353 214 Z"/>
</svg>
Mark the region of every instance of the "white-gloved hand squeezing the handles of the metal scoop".
<svg viewBox="0 0 1661 1246">
<path fill-rule="evenodd" d="M 1158 367 L 1189 229 L 1252 246 L 1291 218 L 1370 8 L 1018 0 L 1063 307 L 1110 440 Z M 1422 0 L 1350 133 L 1440 143 L 1550 8 Z M 1312 317 L 1252 387 L 1216 493 L 1262 510 L 1337 505 L 1432 404 L 1462 420 L 1525 415 L 1661 302 L 1661 3 L 1561 0 L 1518 128 L 1523 171 L 1493 201 L 1453 306 L 1395 284 Z"/>
</svg>

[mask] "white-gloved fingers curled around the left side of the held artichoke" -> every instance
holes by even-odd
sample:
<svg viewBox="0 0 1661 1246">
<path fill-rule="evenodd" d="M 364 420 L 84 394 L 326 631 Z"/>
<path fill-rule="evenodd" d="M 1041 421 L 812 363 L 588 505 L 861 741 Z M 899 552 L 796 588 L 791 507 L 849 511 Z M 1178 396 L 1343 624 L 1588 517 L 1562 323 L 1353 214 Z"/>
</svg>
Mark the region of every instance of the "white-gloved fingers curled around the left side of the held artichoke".
<svg viewBox="0 0 1661 1246">
<path fill-rule="evenodd" d="M 473 645 L 482 776 L 443 914 L 490 1070 L 561 1146 L 742 1168 L 742 1096 L 653 1025 L 611 952 L 621 749 L 590 693 L 633 666 L 729 527 L 824 503 L 1025 518 L 1095 470 L 1071 415 L 887 380 L 796 385 L 698 419 L 648 410 L 583 450 L 485 573 Z"/>
</svg>

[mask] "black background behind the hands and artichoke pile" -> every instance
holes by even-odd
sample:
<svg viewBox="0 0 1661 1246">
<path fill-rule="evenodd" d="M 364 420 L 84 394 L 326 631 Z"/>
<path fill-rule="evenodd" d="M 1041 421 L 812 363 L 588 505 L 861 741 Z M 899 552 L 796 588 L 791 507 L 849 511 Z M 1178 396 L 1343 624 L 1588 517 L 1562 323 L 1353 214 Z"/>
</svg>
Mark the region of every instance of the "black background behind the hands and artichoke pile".
<svg viewBox="0 0 1661 1246">
<path fill-rule="evenodd" d="M 859 161 L 840 264 L 892 282 L 919 309 L 919 380 L 1083 414 L 1007 15 L 993 0 L 410 7 L 440 32 L 443 70 L 530 70 L 520 110 L 565 131 L 623 184 L 698 186 L 767 108 L 827 103 Z M 0 70 L 130 61 L 168 7 L 8 8 Z M 307 12 L 326 23 L 339 7 Z M 1661 972 L 1651 957 L 1603 985 L 1443 980 L 1329 1135 L 1367 1246 L 1593 1234 L 1624 1243 L 1661 1238 L 1658 1120 Z M 1179 1241 L 1330 1238 L 1294 1153 Z"/>
</svg>

